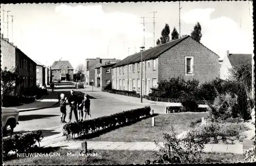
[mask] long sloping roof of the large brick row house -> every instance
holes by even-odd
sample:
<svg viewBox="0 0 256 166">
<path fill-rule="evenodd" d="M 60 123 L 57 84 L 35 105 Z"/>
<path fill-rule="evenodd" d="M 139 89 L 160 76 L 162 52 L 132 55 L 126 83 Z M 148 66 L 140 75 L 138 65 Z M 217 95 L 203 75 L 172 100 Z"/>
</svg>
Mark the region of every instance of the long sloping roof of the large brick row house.
<svg viewBox="0 0 256 166">
<path fill-rule="evenodd" d="M 143 51 L 143 61 L 158 58 L 160 56 L 160 54 L 162 54 L 165 51 L 167 51 L 168 49 L 174 47 L 176 44 L 180 43 L 181 41 L 183 41 L 184 39 L 186 39 L 188 37 L 190 37 L 190 36 L 176 39 L 176 40 L 173 40 L 173 41 L 167 42 L 165 44 L 161 44 L 159 46 L 156 46 L 156 47 L 153 47 L 153 48 Z M 133 64 L 133 63 L 137 63 L 140 61 L 141 61 L 141 52 L 138 52 L 129 57 L 126 57 L 125 59 L 123 59 L 121 62 L 117 63 L 113 67 L 119 67 L 119 66 L 123 66 L 123 65 Z"/>
</svg>

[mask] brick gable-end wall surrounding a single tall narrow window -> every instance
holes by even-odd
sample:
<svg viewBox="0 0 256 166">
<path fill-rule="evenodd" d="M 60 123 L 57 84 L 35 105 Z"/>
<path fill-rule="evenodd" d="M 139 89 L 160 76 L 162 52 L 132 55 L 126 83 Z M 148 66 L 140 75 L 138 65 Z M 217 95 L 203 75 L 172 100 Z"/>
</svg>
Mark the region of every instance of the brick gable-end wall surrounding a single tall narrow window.
<svg viewBox="0 0 256 166">
<path fill-rule="evenodd" d="M 185 74 L 185 57 L 194 58 L 194 73 Z M 202 44 L 187 38 L 159 56 L 159 80 L 182 76 L 200 83 L 219 77 L 219 57 Z"/>
</svg>

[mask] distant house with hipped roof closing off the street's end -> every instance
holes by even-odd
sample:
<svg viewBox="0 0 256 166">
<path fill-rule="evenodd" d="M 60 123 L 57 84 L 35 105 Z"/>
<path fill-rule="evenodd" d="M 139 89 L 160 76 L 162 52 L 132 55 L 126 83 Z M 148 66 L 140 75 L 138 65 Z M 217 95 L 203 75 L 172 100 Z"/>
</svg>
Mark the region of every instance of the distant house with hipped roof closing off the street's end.
<svg viewBox="0 0 256 166">
<path fill-rule="evenodd" d="M 74 68 L 69 61 L 55 61 L 51 66 L 52 81 L 73 81 Z"/>
</svg>

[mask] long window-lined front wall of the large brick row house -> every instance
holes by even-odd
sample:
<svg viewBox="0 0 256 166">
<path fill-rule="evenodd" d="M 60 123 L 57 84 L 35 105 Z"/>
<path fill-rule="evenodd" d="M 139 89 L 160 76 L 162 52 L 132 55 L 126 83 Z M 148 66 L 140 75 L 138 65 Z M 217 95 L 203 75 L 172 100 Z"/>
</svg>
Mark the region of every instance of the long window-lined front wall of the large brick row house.
<svg viewBox="0 0 256 166">
<path fill-rule="evenodd" d="M 150 62 L 150 68 L 148 69 L 147 62 Z M 153 60 L 148 60 L 144 62 L 144 69 L 142 70 L 142 80 L 144 79 L 144 89 L 142 88 L 143 94 L 148 94 L 148 92 L 151 91 L 151 88 L 153 87 L 153 78 L 156 78 L 156 82 L 158 82 L 158 58 L 155 59 L 155 67 L 156 69 L 153 69 Z M 145 67 L 146 64 L 146 67 Z M 131 70 L 129 69 L 131 65 Z M 138 79 L 141 79 L 141 62 L 139 63 L 139 70 L 138 70 L 138 63 L 135 63 L 135 71 L 133 71 L 133 64 L 125 65 L 124 66 L 124 72 L 123 67 L 121 66 L 121 73 L 119 72 L 119 67 L 113 68 L 112 73 L 112 87 L 113 89 L 117 90 L 126 90 L 126 91 L 136 91 L 137 93 L 140 93 L 141 90 L 141 80 L 139 80 L 139 86 L 138 86 Z M 128 68 L 128 70 L 127 70 Z M 124 86 L 119 85 L 119 80 L 124 79 Z M 135 79 L 135 85 L 133 85 L 133 79 Z M 145 81 L 146 80 L 146 81 Z M 150 84 L 148 85 L 148 80 Z M 140 87 L 140 89 L 138 89 Z"/>
</svg>

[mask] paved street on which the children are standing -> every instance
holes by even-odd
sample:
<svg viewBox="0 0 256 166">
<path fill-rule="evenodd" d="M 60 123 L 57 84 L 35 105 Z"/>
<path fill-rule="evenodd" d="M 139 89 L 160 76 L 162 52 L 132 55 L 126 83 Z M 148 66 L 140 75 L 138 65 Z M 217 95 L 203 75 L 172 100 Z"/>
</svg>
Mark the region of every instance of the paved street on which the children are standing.
<svg viewBox="0 0 256 166">
<path fill-rule="evenodd" d="M 66 93 L 69 95 L 70 90 L 74 88 L 71 85 L 61 85 L 57 87 L 56 91 L 61 93 Z M 118 100 L 112 97 L 106 97 L 102 94 L 98 94 L 99 92 L 92 92 L 89 89 L 75 89 L 76 92 L 80 91 L 82 93 L 88 93 L 92 99 L 91 100 L 91 112 L 92 118 L 98 118 L 101 116 L 112 115 L 118 112 L 122 112 L 123 110 L 129 110 L 133 108 L 144 107 L 143 104 L 136 104 L 125 102 L 122 100 Z M 153 106 L 157 107 L 157 106 Z M 158 106 L 161 107 L 161 106 Z M 68 112 L 66 121 L 68 121 L 68 114 L 69 114 L 69 105 L 67 106 Z M 156 108 L 154 108 L 156 109 Z M 160 109 L 163 109 L 162 107 Z M 88 117 L 87 117 L 88 118 Z M 24 131 L 31 131 L 31 130 L 43 130 L 44 136 L 50 136 L 54 134 L 58 134 L 52 129 L 52 127 L 61 127 L 63 126 L 60 123 L 60 111 L 59 107 L 54 108 L 46 108 L 46 109 L 39 109 L 39 110 L 32 110 L 30 112 L 21 112 L 19 113 L 19 125 L 14 129 L 14 133 L 20 133 Z M 72 122 L 75 121 L 74 113 L 72 114 Z"/>
</svg>

